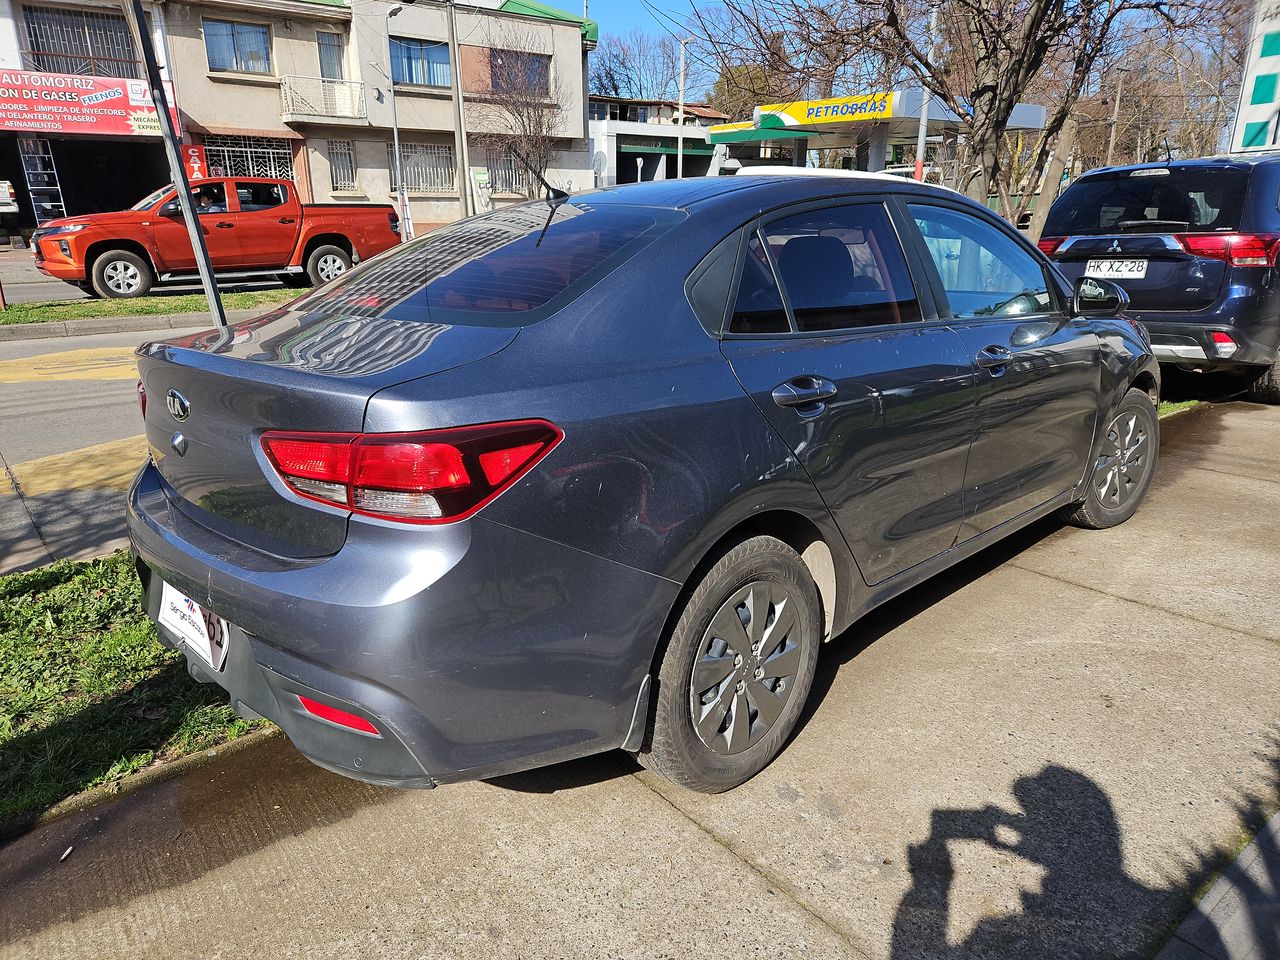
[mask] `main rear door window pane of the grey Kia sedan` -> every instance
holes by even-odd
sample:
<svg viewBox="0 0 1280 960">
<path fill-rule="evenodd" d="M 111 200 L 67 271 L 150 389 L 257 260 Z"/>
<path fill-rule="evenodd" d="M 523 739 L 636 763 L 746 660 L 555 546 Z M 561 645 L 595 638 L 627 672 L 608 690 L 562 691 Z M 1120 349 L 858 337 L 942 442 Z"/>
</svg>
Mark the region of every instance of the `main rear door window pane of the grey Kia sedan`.
<svg viewBox="0 0 1280 960">
<path fill-rule="evenodd" d="M 920 319 L 906 257 L 882 204 L 810 210 L 773 220 L 763 234 L 797 332 Z"/>
</svg>

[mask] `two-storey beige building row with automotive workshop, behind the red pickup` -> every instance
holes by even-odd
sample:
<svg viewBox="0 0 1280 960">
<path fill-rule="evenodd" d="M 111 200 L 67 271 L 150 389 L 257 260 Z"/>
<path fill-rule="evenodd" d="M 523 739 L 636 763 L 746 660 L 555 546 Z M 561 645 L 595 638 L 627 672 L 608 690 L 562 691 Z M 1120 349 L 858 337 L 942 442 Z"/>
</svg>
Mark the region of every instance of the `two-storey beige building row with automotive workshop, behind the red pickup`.
<svg viewBox="0 0 1280 960">
<path fill-rule="evenodd" d="M 471 134 L 463 172 L 447 15 L 436 0 L 169 0 L 148 9 L 179 131 L 204 147 L 210 173 L 291 178 L 303 201 L 388 202 L 394 82 L 416 223 L 461 215 L 461 177 L 480 206 L 526 196 L 507 146 L 513 97 L 550 118 L 548 179 L 588 186 L 585 68 L 595 24 L 536 0 L 457 6 Z M 155 111 L 133 119 L 148 102 L 134 47 L 119 0 L 0 0 L 0 70 L 10 69 L 0 76 L 0 179 L 19 189 L 20 225 L 119 209 L 168 179 Z M 527 78 L 518 97 L 512 70 Z M 50 114 L 31 109 L 32 95 L 91 102 Z M 125 99 L 131 106 L 102 108 Z"/>
</svg>

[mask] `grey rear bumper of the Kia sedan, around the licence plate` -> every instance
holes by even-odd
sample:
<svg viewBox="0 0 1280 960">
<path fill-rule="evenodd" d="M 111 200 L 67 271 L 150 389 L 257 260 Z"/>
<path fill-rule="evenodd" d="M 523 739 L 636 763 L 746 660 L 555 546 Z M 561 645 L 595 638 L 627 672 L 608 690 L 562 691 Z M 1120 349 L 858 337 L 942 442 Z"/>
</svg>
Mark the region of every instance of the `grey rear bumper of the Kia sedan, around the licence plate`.
<svg viewBox="0 0 1280 960">
<path fill-rule="evenodd" d="M 383 785 L 475 780 L 622 745 L 678 590 L 480 517 L 352 521 L 332 557 L 280 561 L 186 518 L 150 465 L 127 509 L 152 618 L 163 580 L 234 625 L 223 671 L 188 653 L 192 673 L 278 723 L 315 763 Z M 300 695 L 380 736 L 312 717 Z"/>
</svg>

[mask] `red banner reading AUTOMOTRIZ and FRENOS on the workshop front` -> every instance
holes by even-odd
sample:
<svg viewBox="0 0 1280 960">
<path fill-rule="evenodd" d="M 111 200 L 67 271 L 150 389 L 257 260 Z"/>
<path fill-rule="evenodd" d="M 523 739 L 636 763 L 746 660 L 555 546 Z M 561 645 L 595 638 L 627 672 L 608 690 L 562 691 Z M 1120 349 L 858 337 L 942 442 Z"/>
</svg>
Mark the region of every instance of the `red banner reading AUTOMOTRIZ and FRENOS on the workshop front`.
<svg viewBox="0 0 1280 960">
<path fill-rule="evenodd" d="M 177 127 L 173 87 L 164 86 Z M 0 129 L 159 137 L 160 119 L 146 81 L 0 70 Z"/>
</svg>

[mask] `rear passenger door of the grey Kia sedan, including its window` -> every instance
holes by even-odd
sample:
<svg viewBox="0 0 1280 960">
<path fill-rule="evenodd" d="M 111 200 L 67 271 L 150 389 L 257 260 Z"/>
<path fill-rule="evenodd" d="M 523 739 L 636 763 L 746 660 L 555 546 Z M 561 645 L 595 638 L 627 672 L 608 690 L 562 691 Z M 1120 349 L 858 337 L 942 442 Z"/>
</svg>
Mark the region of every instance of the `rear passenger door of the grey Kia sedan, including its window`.
<svg viewBox="0 0 1280 960">
<path fill-rule="evenodd" d="M 974 367 L 918 289 L 883 198 L 792 207 L 745 234 L 722 339 L 869 584 L 960 525 Z"/>
</svg>

